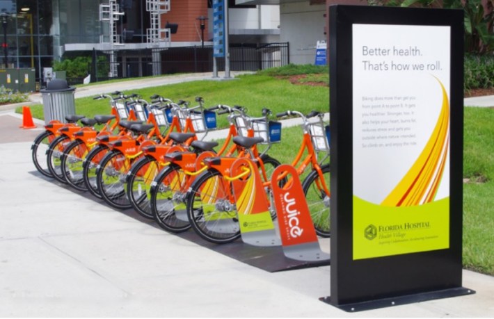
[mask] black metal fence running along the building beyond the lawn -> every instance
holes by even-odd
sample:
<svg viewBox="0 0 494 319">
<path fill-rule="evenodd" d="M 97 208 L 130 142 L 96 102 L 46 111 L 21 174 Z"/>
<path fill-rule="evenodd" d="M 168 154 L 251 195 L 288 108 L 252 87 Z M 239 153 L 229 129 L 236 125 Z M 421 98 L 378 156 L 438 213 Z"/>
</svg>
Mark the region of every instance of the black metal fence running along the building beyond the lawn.
<svg viewBox="0 0 494 319">
<path fill-rule="evenodd" d="M 230 71 L 257 71 L 269 67 L 281 67 L 290 63 L 289 44 L 230 44 Z M 161 62 L 153 65 L 151 49 L 122 50 L 118 52 L 118 76 L 113 79 L 152 76 L 154 67 L 161 74 L 213 72 L 213 47 L 176 47 L 162 49 Z M 102 55 L 102 54 L 98 54 Z M 109 59 L 108 59 L 109 60 Z M 225 69 L 225 59 L 216 58 L 218 71 Z M 110 63 L 97 63 L 98 76 L 92 76 L 91 82 L 106 81 L 109 76 L 102 76 L 103 70 L 109 70 Z M 88 65 L 90 70 L 90 65 Z M 67 78 L 69 85 L 80 84 L 83 79 Z"/>
</svg>

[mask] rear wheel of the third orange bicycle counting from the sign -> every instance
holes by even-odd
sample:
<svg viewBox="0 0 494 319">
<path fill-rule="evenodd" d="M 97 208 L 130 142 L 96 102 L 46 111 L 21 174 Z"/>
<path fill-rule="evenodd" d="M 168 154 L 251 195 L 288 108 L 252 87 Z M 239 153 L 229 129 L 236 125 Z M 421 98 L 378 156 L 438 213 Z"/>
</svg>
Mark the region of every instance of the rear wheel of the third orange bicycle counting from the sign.
<svg viewBox="0 0 494 319">
<path fill-rule="evenodd" d="M 132 164 L 127 174 L 127 198 L 136 212 L 144 218 L 154 218 L 150 204 L 150 188 L 158 170 L 159 163 L 150 156 L 144 156 Z"/>
</svg>

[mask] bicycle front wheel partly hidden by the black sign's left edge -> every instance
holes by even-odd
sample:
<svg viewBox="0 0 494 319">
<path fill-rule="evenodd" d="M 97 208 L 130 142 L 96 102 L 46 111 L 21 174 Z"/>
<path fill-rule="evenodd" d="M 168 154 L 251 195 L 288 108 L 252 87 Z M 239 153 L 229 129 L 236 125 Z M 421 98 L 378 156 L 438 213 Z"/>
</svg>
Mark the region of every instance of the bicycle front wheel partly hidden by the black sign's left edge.
<svg viewBox="0 0 494 319">
<path fill-rule="evenodd" d="M 321 166 L 324 181 L 329 189 L 330 167 L 329 164 Z M 326 194 L 321 186 L 321 177 L 313 170 L 302 183 L 303 193 L 309 206 L 310 216 L 314 223 L 317 235 L 330 237 L 330 194 Z"/>
</svg>

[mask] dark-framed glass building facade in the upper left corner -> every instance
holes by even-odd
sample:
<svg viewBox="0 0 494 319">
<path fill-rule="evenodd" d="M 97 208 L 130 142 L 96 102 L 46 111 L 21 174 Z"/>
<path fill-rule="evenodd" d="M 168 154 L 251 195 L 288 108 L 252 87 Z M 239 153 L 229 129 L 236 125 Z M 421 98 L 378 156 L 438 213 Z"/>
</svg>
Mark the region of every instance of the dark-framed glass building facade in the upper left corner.
<svg viewBox="0 0 494 319">
<path fill-rule="evenodd" d="M 99 43 L 108 24 L 99 21 L 99 0 L 0 0 L 1 68 L 29 67 L 42 77 L 43 67 L 61 58 L 65 44 Z M 119 0 L 125 15 L 118 28 L 134 31 L 127 42 L 145 42 L 149 14 L 145 0 Z M 4 43 L 6 42 L 6 46 Z"/>
</svg>

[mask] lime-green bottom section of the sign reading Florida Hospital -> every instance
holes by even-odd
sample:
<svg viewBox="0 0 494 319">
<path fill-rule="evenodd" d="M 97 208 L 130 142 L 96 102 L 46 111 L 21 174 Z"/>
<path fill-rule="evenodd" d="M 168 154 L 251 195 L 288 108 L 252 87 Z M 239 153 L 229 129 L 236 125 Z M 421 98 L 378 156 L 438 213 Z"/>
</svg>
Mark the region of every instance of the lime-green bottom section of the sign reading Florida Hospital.
<svg viewBox="0 0 494 319">
<path fill-rule="evenodd" d="M 353 197 L 353 260 L 449 248 L 449 198 L 391 207 Z"/>
</svg>

